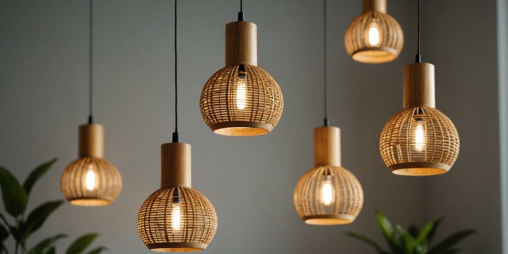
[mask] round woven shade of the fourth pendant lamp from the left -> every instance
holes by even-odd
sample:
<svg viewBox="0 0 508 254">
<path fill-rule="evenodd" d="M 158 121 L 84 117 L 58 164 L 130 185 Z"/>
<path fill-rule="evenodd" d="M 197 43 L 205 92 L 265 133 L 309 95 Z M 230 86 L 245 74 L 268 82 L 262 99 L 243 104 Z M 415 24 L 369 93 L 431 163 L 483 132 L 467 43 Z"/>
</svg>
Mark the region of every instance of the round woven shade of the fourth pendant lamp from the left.
<svg viewBox="0 0 508 254">
<path fill-rule="evenodd" d="M 331 176 L 333 202 L 321 202 L 322 183 Z M 293 194 L 296 211 L 305 223 L 340 225 L 352 223 L 363 207 L 363 189 L 350 171 L 336 166 L 315 167 L 298 181 Z"/>
</svg>

